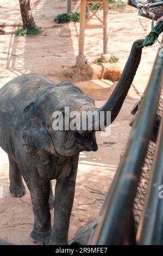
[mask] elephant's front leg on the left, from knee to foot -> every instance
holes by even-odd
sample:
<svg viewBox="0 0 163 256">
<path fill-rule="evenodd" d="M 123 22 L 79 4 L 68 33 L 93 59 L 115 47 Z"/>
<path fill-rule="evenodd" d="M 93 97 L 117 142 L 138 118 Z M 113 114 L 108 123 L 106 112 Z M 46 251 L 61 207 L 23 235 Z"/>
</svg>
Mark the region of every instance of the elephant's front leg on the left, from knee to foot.
<svg viewBox="0 0 163 256">
<path fill-rule="evenodd" d="M 47 245 L 51 238 L 51 214 L 49 211 L 49 181 L 43 181 L 39 176 L 30 185 L 34 212 L 34 228 L 30 237 L 37 245 Z"/>
</svg>

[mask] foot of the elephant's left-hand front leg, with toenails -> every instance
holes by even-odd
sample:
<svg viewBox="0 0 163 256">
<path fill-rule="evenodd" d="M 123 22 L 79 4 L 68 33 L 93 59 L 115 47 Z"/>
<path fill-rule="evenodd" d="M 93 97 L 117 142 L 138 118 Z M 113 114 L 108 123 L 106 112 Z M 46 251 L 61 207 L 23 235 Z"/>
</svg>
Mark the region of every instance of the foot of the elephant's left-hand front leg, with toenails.
<svg viewBox="0 0 163 256">
<path fill-rule="evenodd" d="M 30 234 L 30 239 L 32 240 L 32 242 L 36 243 L 36 245 L 48 245 L 51 239 L 51 233 L 51 230 L 42 233 L 38 233 L 33 230 Z"/>
</svg>

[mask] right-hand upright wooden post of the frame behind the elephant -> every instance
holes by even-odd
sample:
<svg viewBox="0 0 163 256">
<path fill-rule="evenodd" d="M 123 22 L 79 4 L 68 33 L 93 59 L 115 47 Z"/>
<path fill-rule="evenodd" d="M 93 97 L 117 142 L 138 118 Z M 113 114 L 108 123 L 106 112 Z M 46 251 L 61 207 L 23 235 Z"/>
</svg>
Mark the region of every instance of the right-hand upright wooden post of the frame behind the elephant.
<svg viewBox="0 0 163 256">
<path fill-rule="evenodd" d="M 102 59 L 106 60 L 109 57 L 109 5 L 108 0 L 103 2 L 103 54 Z"/>
</svg>

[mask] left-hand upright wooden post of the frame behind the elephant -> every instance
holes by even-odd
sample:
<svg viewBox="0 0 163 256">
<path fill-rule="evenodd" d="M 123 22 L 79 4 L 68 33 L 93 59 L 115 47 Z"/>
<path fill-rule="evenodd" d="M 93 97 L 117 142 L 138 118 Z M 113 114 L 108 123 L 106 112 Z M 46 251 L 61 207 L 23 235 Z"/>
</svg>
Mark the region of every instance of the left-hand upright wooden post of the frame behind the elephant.
<svg viewBox="0 0 163 256">
<path fill-rule="evenodd" d="M 79 68 L 84 68 L 84 34 L 85 34 L 85 16 L 86 16 L 86 0 L 81 0 L 80 3 L 80 34 L 79 34 L 79 55 L 76 57 L 76 65 Z"/>
</svg>

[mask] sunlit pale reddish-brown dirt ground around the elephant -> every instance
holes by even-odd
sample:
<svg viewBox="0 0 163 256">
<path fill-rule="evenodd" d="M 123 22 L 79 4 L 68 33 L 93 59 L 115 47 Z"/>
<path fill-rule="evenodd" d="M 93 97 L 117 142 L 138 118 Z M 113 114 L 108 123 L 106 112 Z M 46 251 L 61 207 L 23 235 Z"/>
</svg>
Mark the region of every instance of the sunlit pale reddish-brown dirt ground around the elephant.
<svg viewBox="0 0 163 256">
<path fill-rule="evenodd" d="M 54 22 L 57 14 L 66 12 L 67 1 L 30 2 L 35 22 L 37 26 L 42 27 L 42 33 L 28 37 L 17 37 L 13 34 L 17 26 L 21 25 L 18 1 L 0 2 L 0 26 L 5 30 L 5 35 L 0 35 L 0 88 L 16 76 L 35 72 L 57 83 L 73 81 L 85 94 L 96 100 L 97 106 L 101 106 L 115 85 L 107 79 L 110 78 L 108 70 L 115 71 L 112 78 L 114 81 L 117 80 L 116 77 L 126 63 L 132 43 L 148 34 L 151 22 L 141 17 L 142 28 L 137 10 L 128 6 L 110 10 L 110 53 L 114 53 L 120 60 L 117 64 L 106 65 L 105 68 L 91 65 L 92 59 L 101 56 L 103 35 L 100 29 L 87 30 L 85 56 L 89 63 L 86 70 L 80 72 L 75 68 L 79 23 L 58 25 Z M 78 10 L 79 1 L 72 2 L 73 9 Z M 103 193 L 108 190 L 120 156 L 126 147 L 130 132 L 130 109 L 137 99 L 140 99 L 147 85 L 157 48 L 158 45 L 143 49 L 139 70 L 120 114 L 111 125 L 111 135 L 102 137 L 101 132 L 97 132 L 98 151 L 80 154 L 70 223 L 70 242 L 77 230 L 95 220 L 99 214 L 104 199 Z M 95 80 L 96 78 L 98 80 Z M 84 80 L 86 81 L 81 82 Z M 0 185 L 4 188 L 3 199 L 0 198 L 0 237 L 17 245 L 33 245 L 30 241 L 33 211 L 29 192 L 27 190 L 23 198 L 11 197 L 8 171 L 7 154 L 0 148 Z M 53 221 L 53 210 L 51 212 Z"/>
</svg>

